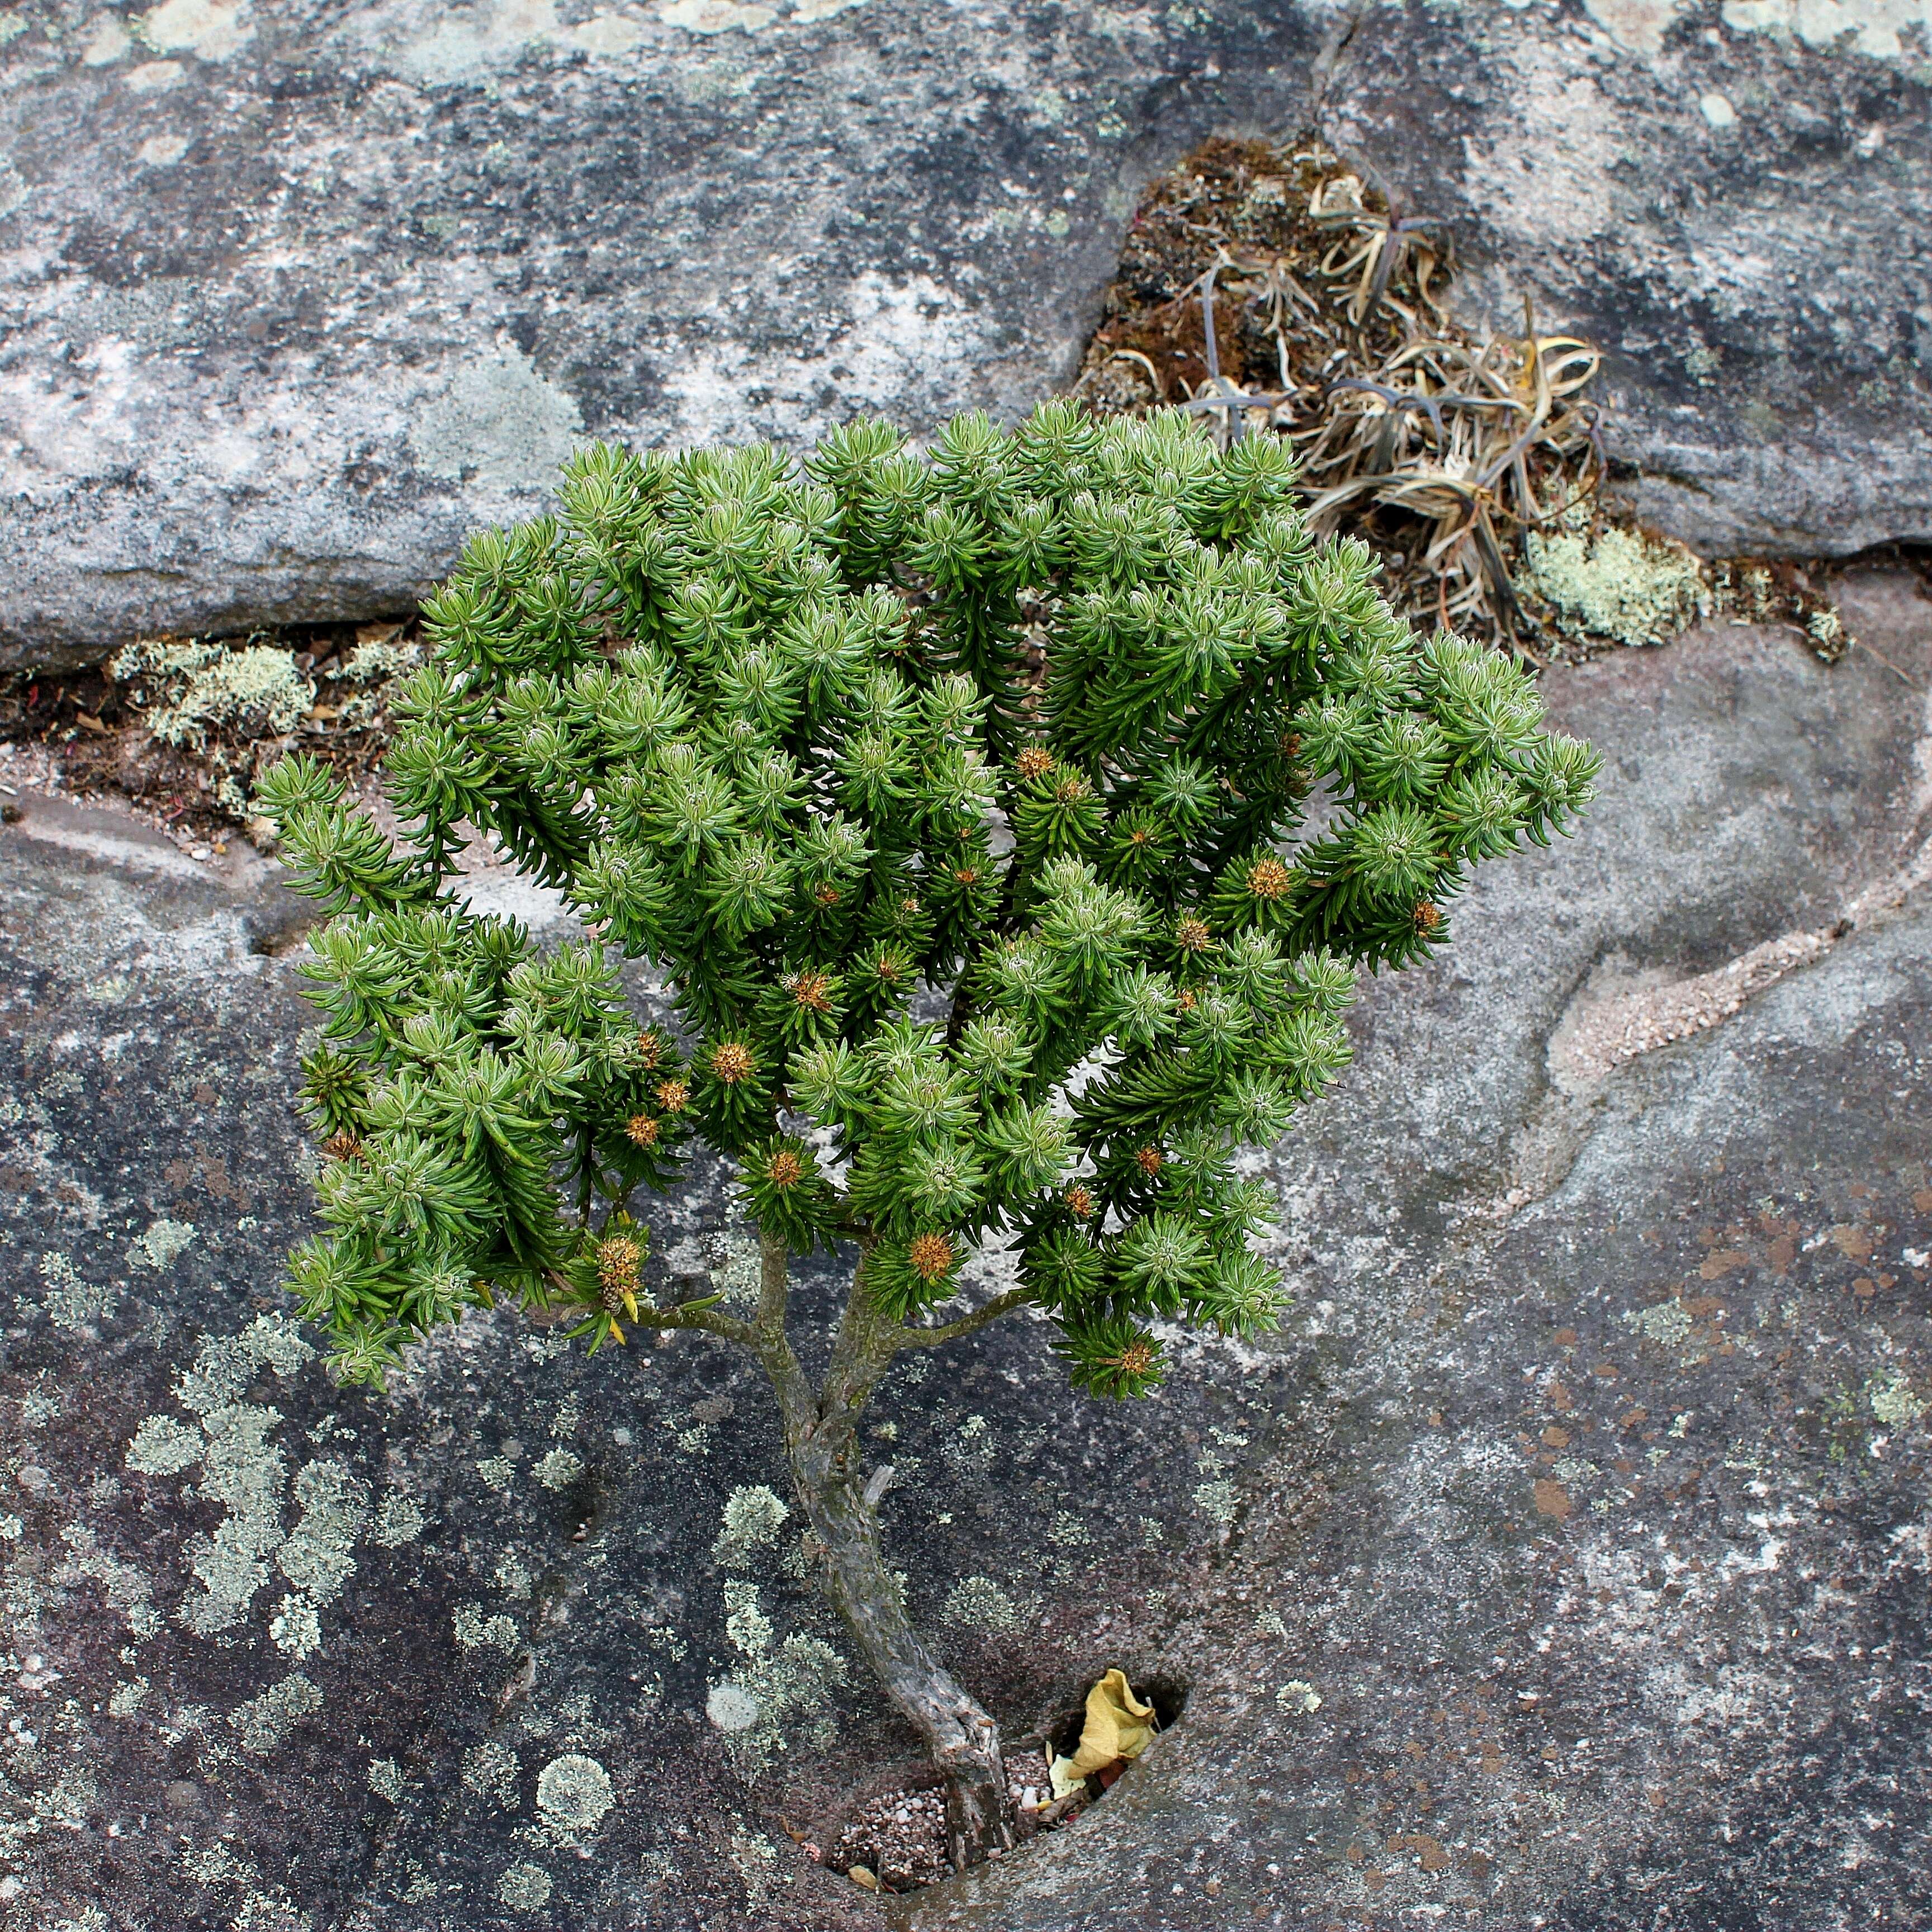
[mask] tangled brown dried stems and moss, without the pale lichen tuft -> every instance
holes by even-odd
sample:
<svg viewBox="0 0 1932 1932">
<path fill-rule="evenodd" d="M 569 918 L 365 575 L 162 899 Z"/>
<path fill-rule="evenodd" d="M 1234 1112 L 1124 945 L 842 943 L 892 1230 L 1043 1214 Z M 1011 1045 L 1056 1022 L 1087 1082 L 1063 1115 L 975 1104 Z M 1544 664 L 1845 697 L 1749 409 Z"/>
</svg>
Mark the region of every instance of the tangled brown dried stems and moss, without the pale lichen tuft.
<svg viewBox="0 0 1932 1932">
<path fill-rule="evenodd" d="M 1076 388 L 1289 437 L 1316 526 L 1368 537 L 1399 603 L 1520 641 L 1524 531 L 1602 483 L 1600 355 L 1540 336 L 1528 301 L 1522 336 L 1451 321 L 1434 228 L 1320 145 L 1208 143 L 1136 216 Z"/>
</svg>

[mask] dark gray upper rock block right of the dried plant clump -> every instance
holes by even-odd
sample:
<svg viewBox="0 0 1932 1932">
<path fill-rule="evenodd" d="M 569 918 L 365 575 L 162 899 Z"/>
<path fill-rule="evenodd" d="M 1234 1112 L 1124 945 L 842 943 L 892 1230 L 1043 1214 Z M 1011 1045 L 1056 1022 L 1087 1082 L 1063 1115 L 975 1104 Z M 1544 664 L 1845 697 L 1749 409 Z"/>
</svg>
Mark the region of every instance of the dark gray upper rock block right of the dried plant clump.
<svg viewBox="0 0 1932 1932">
<path fill-rule="evenodd" d="M 1602 344 L 1644 522 L 1843 556 L 1932 533 L 1928 83 L 1920 0 L 1389 0 L 1320 120 L 1451 224 L 1466 319 Z"/>
</svg>

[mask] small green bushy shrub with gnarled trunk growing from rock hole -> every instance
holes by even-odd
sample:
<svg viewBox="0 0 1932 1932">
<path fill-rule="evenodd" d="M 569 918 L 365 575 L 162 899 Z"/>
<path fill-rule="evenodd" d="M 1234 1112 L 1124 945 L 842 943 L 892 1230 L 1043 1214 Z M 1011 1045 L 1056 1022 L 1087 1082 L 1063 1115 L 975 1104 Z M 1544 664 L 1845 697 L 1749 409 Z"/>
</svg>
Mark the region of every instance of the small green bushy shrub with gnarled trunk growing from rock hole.
<svg viewBox="0 0 1932 1932">
<path fill-rule="evenodd" d="M 1281 440 L 1219 452 L 1179 415 L 968 415 L 929 458 L 877 423 L 804 464 L 595 446 L 425 624 L 402 842 L 309 759 L 261 788 L 332 914 L 301 1310 L 363 1381 L 502 1296 L 591 1350 L 748 1350 L 968 1864 L 1010 1841 L 999 1731 L 887 1567 L 867 1399 L 1022 1310 L 1090 1397 L 1153 1387 L 1175 1323 L 1269 1327 L 1236 1150 L 1347 1063 L 1356 968 L 1441 947 L 1470 867 L 1563 829 L 1596 759 L 1509 661 L 1397 622 L 1360 543 L 1310 539 Z M 595 937 L 543 954 L 471 912 L 471 827 Z M 639 1026 L 624 958 L 674 1030 Z M 649 1196 L 699 1140 L 759 1229 L 748 1316 L 645 1291 Z M 960 1306 L 989 1244 L 1014 1283 Z M 788 1293 L 813 1248 L 854 1264 L 821 1376 Z"/>
</svg>

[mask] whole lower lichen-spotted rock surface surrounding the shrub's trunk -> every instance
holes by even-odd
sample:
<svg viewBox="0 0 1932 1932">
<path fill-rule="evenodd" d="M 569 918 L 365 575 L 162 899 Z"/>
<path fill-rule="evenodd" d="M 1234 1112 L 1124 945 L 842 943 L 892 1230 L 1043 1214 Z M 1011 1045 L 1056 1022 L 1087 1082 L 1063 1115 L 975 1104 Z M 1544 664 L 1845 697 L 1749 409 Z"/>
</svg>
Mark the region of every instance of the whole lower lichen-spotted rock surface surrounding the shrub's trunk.
<svg viewBox="0 0 1932 1932">
<path fill-rule="evenodd" d="M 887 1911 L 1911 1922 L 1932 605 L 1859 576 L 1847 618 L 1897 668 L 1723 626 L 1546 678 L 1604 798 L 1368 987 L 1273 1157 L 1281 1335 L 1146 1405 L 1072 1399 L 1024 1323 L 891 1381 L 867 1453 L 949 1663 L 1014 1737 L 1117 1663 L 1184 1716 Z M 21 806 L 0 1928 L 877 1926 L 788 1833 L 833 1843 L 912 1747 L 755 1379 L 498 1314 L 332 1389 L 278 1293 L 299 908 L 242 848 Z M 744 1293 L 723 1208 L 711 1171 L 665 1204 L 659 1279 Z"/>
</svg>

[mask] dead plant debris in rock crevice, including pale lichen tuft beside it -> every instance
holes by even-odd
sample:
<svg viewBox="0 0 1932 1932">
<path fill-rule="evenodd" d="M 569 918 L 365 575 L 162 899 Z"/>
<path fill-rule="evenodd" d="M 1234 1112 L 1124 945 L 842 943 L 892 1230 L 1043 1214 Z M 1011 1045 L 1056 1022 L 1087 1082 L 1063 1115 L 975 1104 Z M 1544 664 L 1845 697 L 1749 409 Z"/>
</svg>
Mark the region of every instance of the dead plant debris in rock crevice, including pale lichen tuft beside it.
<svg viewBox="0 0 1932 1932">
<path fill-rule="evenodd" d="M 1412 620 L 1536 659 L 1654 643 L 1712 611 L 1849 639 L 1795 566 L 1706 566 L 1604 504 L 1600 352 L 1443 309 L 1449 236 L 1372 168 L 1215 137 L 1140 205 L 1074 384 L 1101 413 L 1184 408 L 1287 437 L 1318 529 L 1368 541 Z"/>
</svg>

